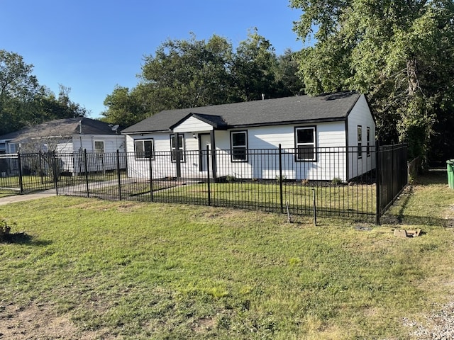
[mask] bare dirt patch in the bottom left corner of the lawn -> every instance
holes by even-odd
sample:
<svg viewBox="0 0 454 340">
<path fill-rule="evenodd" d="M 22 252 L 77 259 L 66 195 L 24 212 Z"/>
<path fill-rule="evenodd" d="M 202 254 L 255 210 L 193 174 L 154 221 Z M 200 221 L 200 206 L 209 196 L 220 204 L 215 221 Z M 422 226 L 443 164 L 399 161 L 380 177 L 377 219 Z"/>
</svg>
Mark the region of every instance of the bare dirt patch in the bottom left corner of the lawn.
<svg viewBox="0 0 454 340">
<path fill-rule="evenodd" d="M 0 305 L 0 339 L 118 339 L 105 331 L 81 331 L 48 305 Z"/>
</svg>

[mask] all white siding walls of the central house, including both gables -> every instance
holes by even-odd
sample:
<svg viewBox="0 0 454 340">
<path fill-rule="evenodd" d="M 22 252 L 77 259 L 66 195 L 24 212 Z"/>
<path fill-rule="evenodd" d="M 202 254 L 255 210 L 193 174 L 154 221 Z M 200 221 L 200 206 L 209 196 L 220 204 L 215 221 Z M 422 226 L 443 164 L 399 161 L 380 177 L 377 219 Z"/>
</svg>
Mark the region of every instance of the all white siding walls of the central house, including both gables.
<svg viewBox="0 0 454 340">
<path fill-rule="evenodd" d="M 358 123 L 359 122 L 359 123 Z M 363 96 L 358 105 L 353 108 L 349 116 L 349 142 L 350 145 L 357 145 L 356 127 L 358 124 L 363 126 L 363 145 L 366 143 L 366 130 L 370 127 L 371 138 L 375 136 L 375 124 L 368 110 L 367 103 Z M 319 152 L 316 155 L 316 162 L 295 162 L 295 128 L 314 126 L 316 128 L 316 147 Z M 185 162 L 181 163 L 183 177 L 198 177 L 199 172 L 199 140 L 192 137 L 192 133 L 209 133 L 211 125 L 190 117 L 180 124 L 175 132 L 184 135 L 184 150 L 186 151 Z M 205 129 L 205 130 L 204 130 Z M 184 132 L 186 130 L 186 132 Z M 216 176 L 236 176 L 238 179 L 276 179 L 279 176 L 279 163 L 277 157 L 272 157 L 270 153 L 265 154 L 264 150 L 277 149 L 279 144 L 283 149 L 283 176 L 286 179 L 309 179 L 331 181 L 334 178 L 347 181 L 358 176 L 360 164 L 354 159 L 355 164 L 349 164 L 350 174 L 346 174 L 347 153 L 345 122 L 330 122 L 309 125 L 280 125 L 267 127 L 254 127 L 247 129 L 236 129 L 233 131 L 247 131 L 248 149 L 250 155 L 248 162 L 232 162 L 231 159 L 231 131 L 214 131 L 216 152 Z M 155 159 L 152 160 L 153 178 L 175 177 L 176 164 L 170 160 L 170 154 L 160 154 L 160 152 L 170 151 L 170 132 L 154 133 L 149 135 L 128 135 L 126 136 L 126 149 L 134 152 L 134 140 L 146 140 L 153 138 Z M 350 157 L 351 158 L 351 157 Z M 374 157 L 363 157 L 369 160 Z M 128 161 L 128 175 L 131 177 L 148 177 L 150 171 L 149 159 L 133 159 Z M 372 162 L 372 161 L 371 161 Z M 375 158 L 373 160 L 375 162 Z M 358 164 L 358 165 L 357 165 Z M 354 165 L 354 166 L 353 166 Z M 359 166 L 359 167 L 358 167 Z M 370 164 L 372 166 L 372 164 Z M 368 169 L 370 169 L 370 166 Z M 375 164 L 374 164 L 375 166 Z M 355 169 L 355 171 L 353 171 Z"/>
</svg>

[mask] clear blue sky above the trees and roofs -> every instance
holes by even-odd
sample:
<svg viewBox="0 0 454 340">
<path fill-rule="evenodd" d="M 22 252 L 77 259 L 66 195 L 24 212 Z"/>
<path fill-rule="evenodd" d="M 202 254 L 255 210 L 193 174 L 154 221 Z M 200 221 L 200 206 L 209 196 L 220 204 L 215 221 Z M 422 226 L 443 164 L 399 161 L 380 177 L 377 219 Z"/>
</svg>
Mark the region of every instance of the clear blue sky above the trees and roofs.
<svg viewBox="0 0 454 340">
<path fill-rule="evenodd" d="M 106 96 L 134 87 L 143 56 L 168 38 L 216 34 L 236 47 L 256 27 L 282 55 L 303 47 L 292 30 L 300 15 L 287 0 L 0 0 L 0 49 L 33 64 L 55 94 L 70 87 L 71 100 L 98 118 Z"/>
</svg>

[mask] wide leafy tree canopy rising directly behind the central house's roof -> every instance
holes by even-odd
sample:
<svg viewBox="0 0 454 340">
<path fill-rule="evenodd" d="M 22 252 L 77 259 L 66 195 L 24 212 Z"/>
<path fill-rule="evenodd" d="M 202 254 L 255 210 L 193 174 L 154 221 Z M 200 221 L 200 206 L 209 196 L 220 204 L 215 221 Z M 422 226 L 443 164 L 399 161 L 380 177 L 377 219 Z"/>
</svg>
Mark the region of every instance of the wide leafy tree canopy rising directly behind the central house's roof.
<svg viewBox="0 0 454 340">
<path fill-rule="evenodd" d="M 106 97 L 103 120 L 128 126 L 162 110 L 257 100 L 262 94 L 298 94 L 302 83 L 294 77 L 293 55 L 287 51 L 276 57 L 257 30 L 250 31 L 235 51 L 218 35 L 167 40 L 154 55 L 145 56 L 138 86 L 117 86 Z"/>
</svg>

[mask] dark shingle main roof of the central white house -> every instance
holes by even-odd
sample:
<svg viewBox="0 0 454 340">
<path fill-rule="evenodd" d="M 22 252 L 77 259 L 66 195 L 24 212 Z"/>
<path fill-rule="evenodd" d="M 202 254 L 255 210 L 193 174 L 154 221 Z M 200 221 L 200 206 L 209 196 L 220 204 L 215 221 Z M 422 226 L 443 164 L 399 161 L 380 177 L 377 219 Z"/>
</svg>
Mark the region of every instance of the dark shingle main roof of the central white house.
<svg viewBox="0 0 454 340">
<path fill-rule="evenodd" d="M 293 96 L 247 101 L 200 108 L 184 108 L 156 113 L 123 130 L 125 133 L 170 131 L 184 118 L 193 115 L 215 128 L 240 128 L 254 125 L 343 120 L 360 94 L 340 92 L 323 96 Z"/>
</svg>

